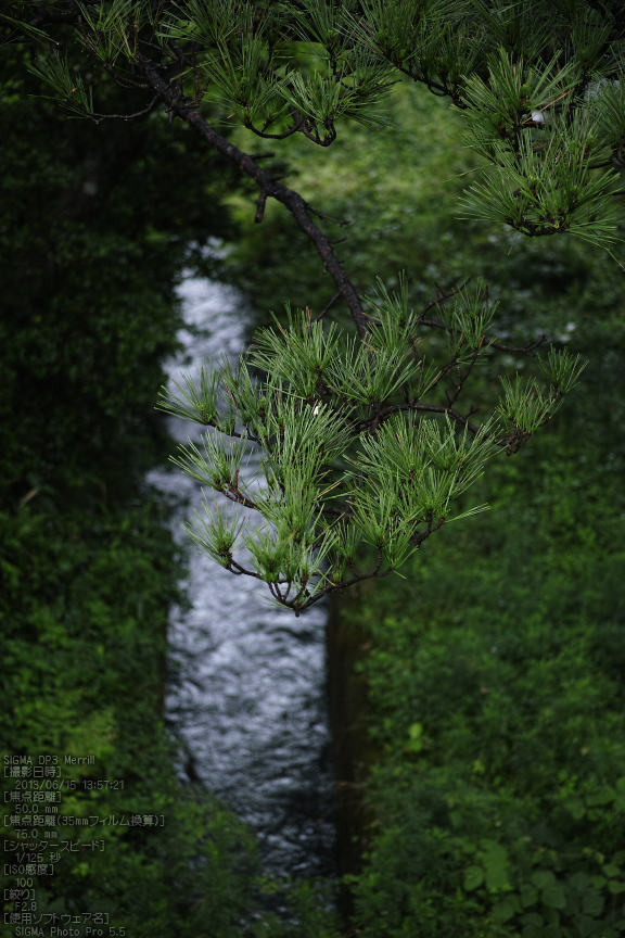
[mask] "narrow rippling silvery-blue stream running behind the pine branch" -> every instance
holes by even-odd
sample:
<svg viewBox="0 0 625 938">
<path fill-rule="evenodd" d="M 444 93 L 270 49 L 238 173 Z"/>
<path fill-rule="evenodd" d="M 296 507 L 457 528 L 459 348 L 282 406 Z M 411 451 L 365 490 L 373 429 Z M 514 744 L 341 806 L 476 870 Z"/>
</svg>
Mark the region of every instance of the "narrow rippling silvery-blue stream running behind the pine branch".
<svg viewBox="0 0 625 938">
<path fill-rule="evenodd" d="M 168 363 L 170 380 L 224 354 L 235 358 L 251 321 L 232 288 L 189 278 L 180 295 L 183 352 Z M 169 429 L 180 443 L 197 443 L 202 432 L 174 418 Z M 153 472 L 149 481 L 179 499 L 174 528 L 187 541 L 182 524 L 201 507 L 199 484 L 179 471 Z M 194 547 L 189 559 L 191 610 L 174 612 L 176 680 L 167 701 L 192 756 L 187 771 L 256 832 L 268 870 L 332 875 L 327 611 L 316 606 L 295 619 L 266 601 L 257 580 L 233 576 Z"/>
</svg>

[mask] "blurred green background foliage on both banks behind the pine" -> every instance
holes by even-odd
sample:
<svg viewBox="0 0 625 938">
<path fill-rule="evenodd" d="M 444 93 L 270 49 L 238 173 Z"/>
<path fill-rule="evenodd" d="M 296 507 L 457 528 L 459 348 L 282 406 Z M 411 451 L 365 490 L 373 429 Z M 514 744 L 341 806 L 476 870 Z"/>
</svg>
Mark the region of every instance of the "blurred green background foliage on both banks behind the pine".
<svg viewBox="0 0 625 938">
<path fill-rule="evenodd" d="M 255 226 L 255 193 L 189 134 L 164 115 L 68 121 L 28 97 L 23 54 L 8 47 L 0 65 L 2 745 L 94 751 L 92 777 L 126 781 L 77 793 L 77 815 L 168 819 L 65 858 L 47 908 L 111 909 L 132 936 L 290 934 L 264 909 L 277 887 L 248 833 L 177 779 L 162 699 L 182 568 L 141 479 L 166 452 L 152 408 L 186 264 L 235 282 L 259 321 L 286 300 L 318 313 L 333 288 L 288 213 L 270 202 Z M 132 110 L 116 93 L 100 100 Z M 400 84 L 391 114 L 390 130 L 344 127 L 329 150 L 292 138 L 273 164 L 350 220 L 324 225 L 347 238 L 358 288 L 405 269 L 419 305 L 435 281 L 482 276 L 501 339 L 545 333 L 589 364 L 554 422 L 482 483 L 490 512 L 433 538 L 405 580 L 344 597 L 370 639 L 374 752 L 350 927 L 611 938 L 625 930 L 623 274 L 565 238 L 458 220 L 477 157 L 448 102 Z M 219 269 L 202 259 L 209 237 L 231 246 Z M 292 902 L 296 934 L 333 934 L 311 887 Z"/>
</svg>

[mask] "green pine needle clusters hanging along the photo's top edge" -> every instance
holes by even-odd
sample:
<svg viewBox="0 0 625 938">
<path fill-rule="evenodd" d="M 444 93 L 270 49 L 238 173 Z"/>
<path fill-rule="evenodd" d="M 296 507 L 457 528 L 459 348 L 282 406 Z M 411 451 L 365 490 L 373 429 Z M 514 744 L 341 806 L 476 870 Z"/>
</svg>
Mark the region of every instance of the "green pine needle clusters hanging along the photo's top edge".
<svg viewBox="0 0 625 938">
<path fill-rule="evenodd" d="M 30 36 L 37 28 L 26 0 L 0 18 L 5 29 L 20 22 Z M 374 109 L 403 73 L 454 101 L 469 145 L 492 165 L 464 200 L 471 217 L 532 237 L 571 232 L 604 248 L 618 240 L 623 30 L 610 8 L 107 0 L 97 11 L 80 5 L 73 35 L 126 87 L 156 90 L 155 101 L 171 106 L 170 77 L 160 76 L 161 87 L 151 78 L 166 61 L 184 109 L 218 101 L 259 137 L 302 134 L 322 147 L 343 116 L 369 131 L 384 126 Z M 74 113 L 103 118 L 62 54 L 30 67 Z"/>
</svg>

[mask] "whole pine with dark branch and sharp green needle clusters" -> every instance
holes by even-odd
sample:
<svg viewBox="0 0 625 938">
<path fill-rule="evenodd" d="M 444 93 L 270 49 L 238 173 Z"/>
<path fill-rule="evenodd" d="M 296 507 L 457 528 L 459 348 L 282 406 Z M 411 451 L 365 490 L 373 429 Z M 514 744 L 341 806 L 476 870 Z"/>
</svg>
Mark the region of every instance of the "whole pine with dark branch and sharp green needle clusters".
<svg viewBox="0 0 625 938">
<path fill-rule="evenodd" d="M 396 293 L 379 282 L 362 297 L 319 224 L 323 213 L 266 162 L 275 154 L 245 153 L 219 128 L 237 118 L 272 144 L 302 134 L 329 147 L 341 118 L 371 132 L 384 126 L 384 99 L 403 74 L 450 99 L 463 142 L 485 160 L 467 216 L 612 251 L 623 218 L 625 4 L 10 0 L 0 25 L 7 41 L 31 43 L 31 69 L 74 115 L 102 122 L 165 109 L 189 125 L 257 185 L 255 220 L 268 198 L 281 202 L 334 280 L 323 310 L 288 310 L 288 325 L 262 330 L 238 368 L 206 367 L 164 395 L 163 409 L 207 428 L 202 448 L 181 447 L 175 461 L 239 506 L 226 515 L 206 502 L 190 525 L 200 546 L 299 614 L 397 570 L 434 531 L 480 510 L 454 514 L 452 504 L 494 454 L 518 452 L 551 419 L 581 360 L 551 348 L 543 383 L 503 376 L 492 416 L 476 419 L 463 404 L 473 369 L 540 343 L 497 341 L 482 283 L 437 288 L 420 310 L 405 279 Z M 90 74 L 100 68 L 133 100 L 143 92 L 144 105 L 101 113 L 97 88 L 77 71 L 86 56 Z M 352 330 L 328 324 L 339 297 Z M 369 566 L 361 542 L 373 548 Z"/>
</svg>

